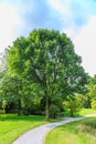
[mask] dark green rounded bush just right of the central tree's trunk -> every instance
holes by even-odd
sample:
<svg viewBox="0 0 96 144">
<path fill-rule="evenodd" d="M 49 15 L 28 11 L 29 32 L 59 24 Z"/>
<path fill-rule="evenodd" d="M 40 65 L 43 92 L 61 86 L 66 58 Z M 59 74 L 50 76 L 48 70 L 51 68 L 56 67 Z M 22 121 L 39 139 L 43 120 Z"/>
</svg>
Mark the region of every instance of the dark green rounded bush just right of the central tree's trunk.
<svg viewBox="0 0 96 144">
<path fill-rule="evenodd" d="M 60 107 L 55 104 L 50 106 L 50 117 L 55 119 L 60 116 Z"/>
</svg>

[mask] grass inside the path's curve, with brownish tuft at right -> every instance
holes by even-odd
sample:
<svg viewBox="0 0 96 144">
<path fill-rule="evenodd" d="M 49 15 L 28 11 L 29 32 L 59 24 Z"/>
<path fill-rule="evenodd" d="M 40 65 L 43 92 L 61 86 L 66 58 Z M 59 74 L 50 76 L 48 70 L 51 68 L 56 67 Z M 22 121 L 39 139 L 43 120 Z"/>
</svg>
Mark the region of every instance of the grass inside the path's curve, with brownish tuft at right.
<svg viewBox="0 0 96 144">
<path fill-rule="evenodd" d="M 47 134 L 45 144 L 96 144 L 96 117 L 54 128 Z"/>
</svg>

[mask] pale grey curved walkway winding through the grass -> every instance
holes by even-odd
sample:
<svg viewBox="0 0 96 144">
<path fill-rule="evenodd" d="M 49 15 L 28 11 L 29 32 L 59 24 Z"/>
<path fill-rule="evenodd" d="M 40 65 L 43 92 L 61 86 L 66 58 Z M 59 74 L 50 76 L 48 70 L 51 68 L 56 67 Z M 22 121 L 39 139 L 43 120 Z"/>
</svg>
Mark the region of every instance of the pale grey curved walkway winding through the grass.
<svg viewBox="0 0 96 144">
<path fill-rule="evenodd" d="M 89 116 L 94 116 L 94 115 L 87 115 L 84 117 L 66 117 L 66 119 L 64 119 L 64 121 L 61 121 L 61 122 L 44 124 L 42 126 L 39 126 L 36 128 L 33 128 L 33 130 L 26 132 L 25 134 L 20 136 L 18 140 L 15 140 L 12 144 L 43 144 L 43 138 L 44 138 L 45 134 L 49 131 L 51 131 L 52 128 L 54 128 L 58 125 L 83 120 L 83 119 L 89 117 Z"/>
</svg>

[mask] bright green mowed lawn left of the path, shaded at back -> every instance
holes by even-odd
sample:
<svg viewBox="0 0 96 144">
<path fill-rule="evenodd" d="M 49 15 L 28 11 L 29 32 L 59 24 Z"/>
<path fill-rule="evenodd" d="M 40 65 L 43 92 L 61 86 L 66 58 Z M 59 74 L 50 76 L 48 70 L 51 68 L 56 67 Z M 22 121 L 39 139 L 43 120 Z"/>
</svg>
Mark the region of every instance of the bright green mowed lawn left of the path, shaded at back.
<svg viewBox="0 0 96 144">
<path fill-rule="evenodd" d="M 17 137 L 28 130 L 45 123 L 44 116 L 0 115 L 0 144 L 12 144 Z"/>
</svg>

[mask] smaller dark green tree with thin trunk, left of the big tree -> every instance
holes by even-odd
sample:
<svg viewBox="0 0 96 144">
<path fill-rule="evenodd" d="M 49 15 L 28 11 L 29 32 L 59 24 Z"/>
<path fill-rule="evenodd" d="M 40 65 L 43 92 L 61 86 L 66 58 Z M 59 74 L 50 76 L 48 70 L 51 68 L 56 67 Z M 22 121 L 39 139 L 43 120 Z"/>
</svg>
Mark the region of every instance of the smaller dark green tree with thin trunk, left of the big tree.
<svg viewBox="0 0 96 144">
<path fill-rule="evenodd" d="M 18 114 L 21 114 L 21 81 L 17 78 L 6 75 L 1 83 L 2 100 L 8 103 L 17 103 Z"/>
</svg>

